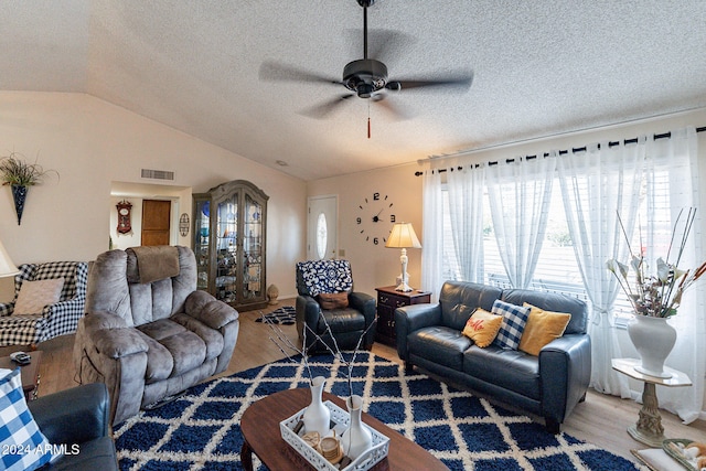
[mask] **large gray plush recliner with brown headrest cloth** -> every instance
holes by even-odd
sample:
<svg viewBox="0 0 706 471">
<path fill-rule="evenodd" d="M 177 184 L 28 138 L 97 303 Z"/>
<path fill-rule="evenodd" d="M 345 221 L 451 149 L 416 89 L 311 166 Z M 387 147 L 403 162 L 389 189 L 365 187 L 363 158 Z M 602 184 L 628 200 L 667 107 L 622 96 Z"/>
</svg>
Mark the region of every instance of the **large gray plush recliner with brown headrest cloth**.
<svg viewBox="0 0 706 471">
<path fill-rule="evenodd" d="M 190 248 L 109 250 L 90 263 L 74 364 L 82 384 L 107 385 L 119 424 L 223 372 L 238 329 L 235 309 L 196 290 Z"/>
</svg>

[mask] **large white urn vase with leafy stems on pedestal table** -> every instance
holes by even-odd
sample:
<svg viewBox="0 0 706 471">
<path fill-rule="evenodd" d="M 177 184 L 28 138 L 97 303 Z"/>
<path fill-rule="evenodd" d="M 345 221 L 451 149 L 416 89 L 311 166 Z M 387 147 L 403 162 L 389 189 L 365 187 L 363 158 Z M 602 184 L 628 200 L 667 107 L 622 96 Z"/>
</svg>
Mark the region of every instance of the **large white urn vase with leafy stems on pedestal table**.
<svg viewBox="0 0 706 471">
<path fill-rule="evenodd" d="M 640 355 L 637 371 L 660 378 L 672 377 L 664 371 L 664 361 L 676 343 L 676 330 L 665 318 L 637 314 L 628 323 L 628 334 Z"/>
</svg>

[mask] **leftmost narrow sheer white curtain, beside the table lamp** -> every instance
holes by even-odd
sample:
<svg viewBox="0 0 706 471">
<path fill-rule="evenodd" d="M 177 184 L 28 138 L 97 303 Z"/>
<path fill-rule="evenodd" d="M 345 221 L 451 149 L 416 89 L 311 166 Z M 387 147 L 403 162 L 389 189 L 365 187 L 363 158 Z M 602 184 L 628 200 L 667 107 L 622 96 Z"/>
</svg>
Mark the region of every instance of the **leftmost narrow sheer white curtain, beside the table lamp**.
<svg viewBox="0 0 706 471">
<path fill-rule="evenodd" d="M 421 289 L 431 291 L 432 301 L 443 283 L 443 199 L 441 175 L 427 170 L 422 175 L 421 215 Z"/>
</svg>

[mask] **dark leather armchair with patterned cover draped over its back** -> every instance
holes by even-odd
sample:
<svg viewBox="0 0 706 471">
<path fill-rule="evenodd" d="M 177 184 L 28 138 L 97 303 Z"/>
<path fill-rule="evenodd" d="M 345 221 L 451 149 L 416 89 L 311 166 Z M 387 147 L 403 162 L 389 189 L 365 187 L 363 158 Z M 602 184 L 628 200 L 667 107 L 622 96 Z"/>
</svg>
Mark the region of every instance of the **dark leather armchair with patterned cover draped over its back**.
<svg viewBox="0 0 706 471">
<path fill-rule="evenodd" d="M 354 350 L 364 333 L 361 347 L 370 350 L 373 346 L 375 325 L 371 324 L 375 322 L 375 299 L 353 291 L 349 260 L 298 263 L 297 292 L 297 332 L 303 341 L 304 327 L 309 328 L 309 352 L 325 351 L 322 342 L 335 351 L 332 335 L 340 350 Z"/>
</svg>

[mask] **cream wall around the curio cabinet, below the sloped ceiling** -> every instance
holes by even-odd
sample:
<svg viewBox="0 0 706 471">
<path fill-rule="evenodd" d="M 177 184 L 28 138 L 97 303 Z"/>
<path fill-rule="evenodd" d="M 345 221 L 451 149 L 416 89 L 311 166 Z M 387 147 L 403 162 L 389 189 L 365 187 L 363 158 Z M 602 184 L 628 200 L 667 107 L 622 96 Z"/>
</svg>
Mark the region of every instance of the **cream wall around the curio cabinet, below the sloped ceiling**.
<svg viewBox="0 0 706 471">
<path fill-rule="evenodd" d="M 82 94 L 0 93 L 0 156 L 13 150 L 32 162 L 39 154 L 44 169 L 61 175 L 30 189 L 21 225 L 10 189 L 0 188 L 0 239 L 17 265 L 95 258 L 108 248 L 111 182 L 163 183 L 141 179 L 140 169 L 170 170 L 171 183 L 190 188 L 186 193 L 236 179 L 263 189 L 270 197 L 267 283 L 277 285 L 281 298 L 296 293 L 293 265 L 304 254 L 303 181 Z M 181 212 L 191 214 L 190 204 Z M 0 279 L 0 301 L 11 297 L 12 279 Z"/>
</svg>

